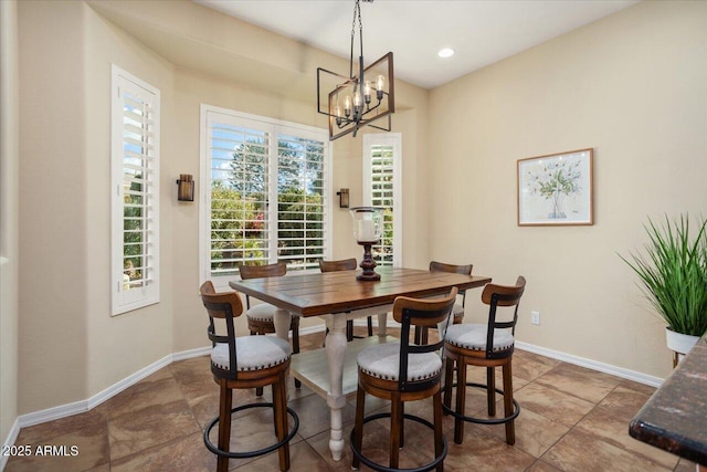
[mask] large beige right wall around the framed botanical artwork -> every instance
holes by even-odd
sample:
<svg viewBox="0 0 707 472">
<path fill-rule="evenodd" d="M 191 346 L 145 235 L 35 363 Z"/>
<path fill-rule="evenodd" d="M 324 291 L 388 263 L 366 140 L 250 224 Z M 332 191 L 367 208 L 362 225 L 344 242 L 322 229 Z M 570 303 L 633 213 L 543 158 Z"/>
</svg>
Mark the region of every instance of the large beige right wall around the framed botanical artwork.
<svg viewBox="0 0 707 472">
<path fill-rule="evenodd" d="M 706 2 L 641 2 L 432 92 L 431 255 L 499 283 L 524 274 L 519 340 L 669 373 L 663 324 L 616 252 L 642 244 L 647 216 L 706 213 Z M 516 160 L 585 147 L 594 225 L 518 228 Z"/>
</svg>

